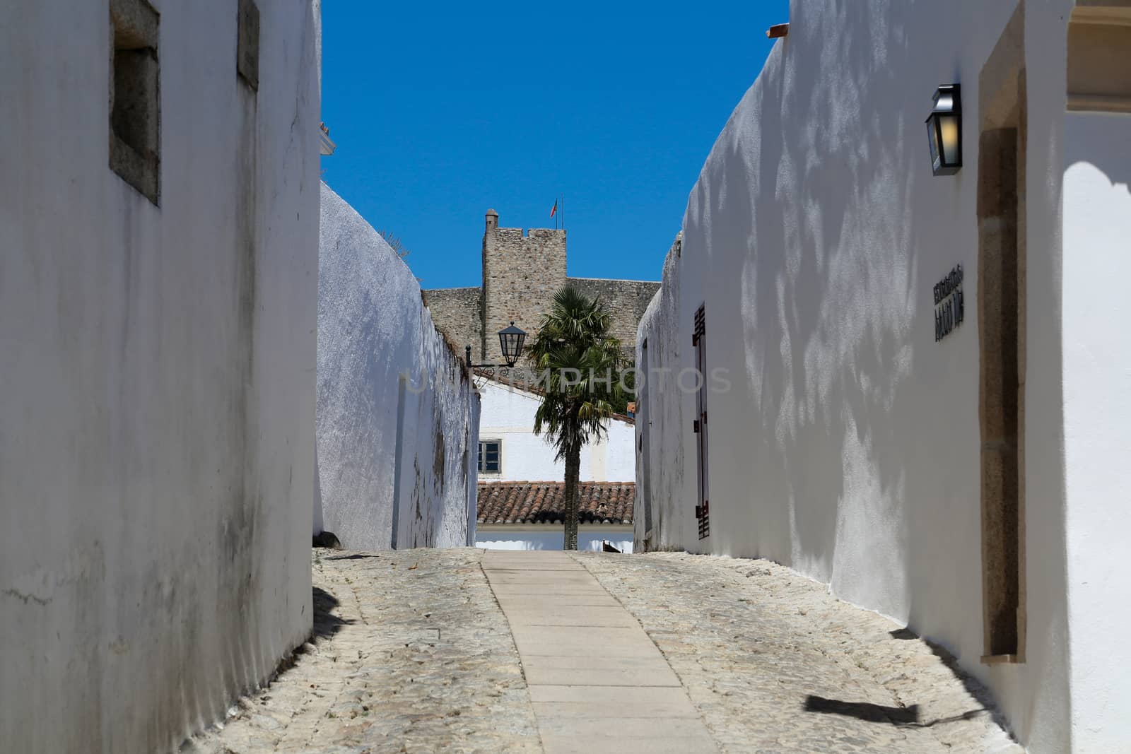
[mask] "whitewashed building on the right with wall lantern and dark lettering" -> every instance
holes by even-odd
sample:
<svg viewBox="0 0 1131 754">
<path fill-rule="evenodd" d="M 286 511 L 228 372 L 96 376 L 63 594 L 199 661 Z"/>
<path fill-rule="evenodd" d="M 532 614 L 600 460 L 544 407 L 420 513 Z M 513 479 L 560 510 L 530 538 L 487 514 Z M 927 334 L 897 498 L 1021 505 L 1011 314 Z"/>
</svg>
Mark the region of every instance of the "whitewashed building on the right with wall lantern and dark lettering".
<svg viewBox="0 0 1131 754">
<path fill-rule="evenodd" d="M 1131 751 L 1129 181 L 1131 2 L 792 2 L 640 324 L 638 548 L 785 563 L 1030 751 Z"/>
</svg>

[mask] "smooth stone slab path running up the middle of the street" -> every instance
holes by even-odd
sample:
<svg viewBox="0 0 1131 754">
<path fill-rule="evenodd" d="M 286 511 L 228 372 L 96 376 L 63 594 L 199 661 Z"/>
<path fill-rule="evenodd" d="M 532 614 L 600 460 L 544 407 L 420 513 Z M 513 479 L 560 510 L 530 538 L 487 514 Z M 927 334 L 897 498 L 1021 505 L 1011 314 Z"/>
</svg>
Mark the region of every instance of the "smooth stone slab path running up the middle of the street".
<svg viewBox="0 0 1131 754">
<path fill-rule="evenodd" d="M 716 751 L 640 623 L 573 557 L 493 551 L 483 571 L 510 622 L 547 754 Z"/>
</svg>

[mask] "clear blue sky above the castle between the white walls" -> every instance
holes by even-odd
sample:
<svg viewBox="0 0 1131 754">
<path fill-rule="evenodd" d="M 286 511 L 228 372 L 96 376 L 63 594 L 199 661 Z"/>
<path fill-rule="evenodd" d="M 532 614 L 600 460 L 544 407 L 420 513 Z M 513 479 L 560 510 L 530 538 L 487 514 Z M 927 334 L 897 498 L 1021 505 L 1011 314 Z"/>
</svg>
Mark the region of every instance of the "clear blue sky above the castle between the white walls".
<svg viewBox="0 0 1131 754">
<path fill-rule="evenodd" d="M 425 288 L 480 284 L 483 216 L 553 227 L 569 274 L 658 279 L 688 193 L 787 0 L 325 0 L 323 179 Z"/>
</svg>

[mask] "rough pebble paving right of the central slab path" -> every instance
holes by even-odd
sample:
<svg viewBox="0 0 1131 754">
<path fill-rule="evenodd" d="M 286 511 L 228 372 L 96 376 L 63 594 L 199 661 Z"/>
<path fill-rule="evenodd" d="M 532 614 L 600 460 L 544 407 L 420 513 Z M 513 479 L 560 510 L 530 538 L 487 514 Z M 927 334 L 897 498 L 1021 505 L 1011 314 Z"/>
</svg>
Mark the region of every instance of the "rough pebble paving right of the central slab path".
<svg viewBox="0 0 1131 754">
<path fill-rule="evenodd" d="M 789 569 L 576 557 L 640 621 L 725 752 L 1022 752 L 944 650 Z"/>
</svg>

